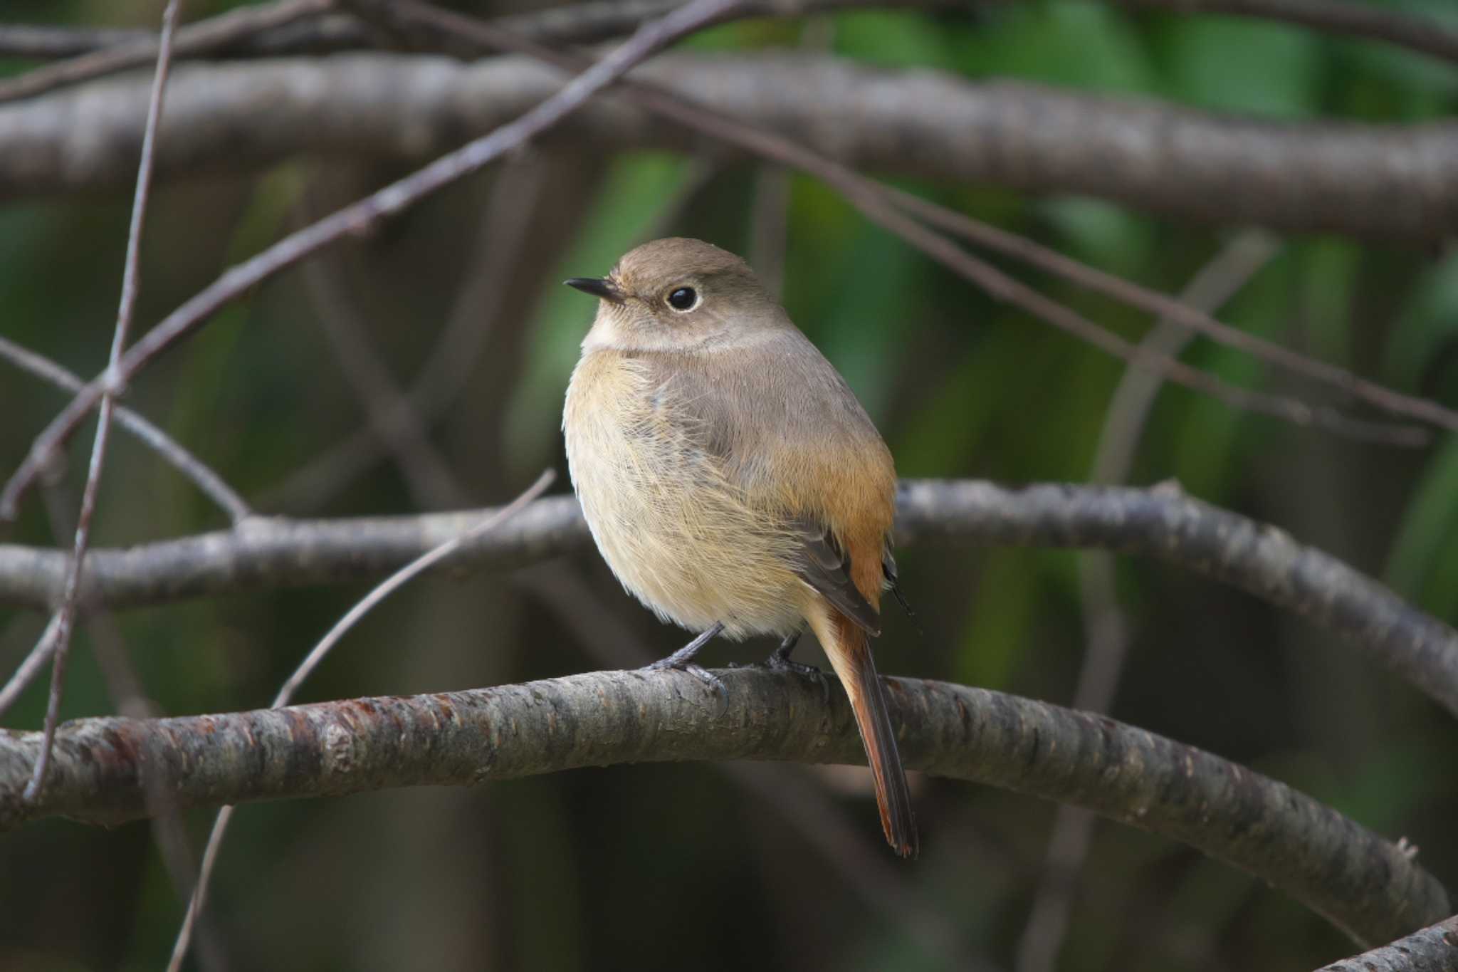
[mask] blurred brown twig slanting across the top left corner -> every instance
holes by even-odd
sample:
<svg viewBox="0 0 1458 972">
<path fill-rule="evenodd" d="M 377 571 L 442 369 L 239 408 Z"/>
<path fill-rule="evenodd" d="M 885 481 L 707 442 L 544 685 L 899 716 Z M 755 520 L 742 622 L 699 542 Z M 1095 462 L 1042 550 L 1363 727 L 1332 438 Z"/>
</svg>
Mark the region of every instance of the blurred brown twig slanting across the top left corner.
<svg viewBox="0 0 1458 972">
<path fill-rule="evenodd" d="M 236 7 L 201 23 L 182 28 L 176 36 L 176 52 L 179 55 L 206 54 L 226 47 L 238 38 L 277 28 L 312 13 L 322 13 L 330 6 L 332 6 L 332 0 L 278 0 L 265 6 Z M 69 61 L 47 64 L 19 77 L 0 82 L 0 102 L 34 98 L 63 85 L 76 85 L 128 67 L 150 64 L 160 60 L 160 42 L 149 36 L 120 47 L 82 54 Z"/>
</svg>

